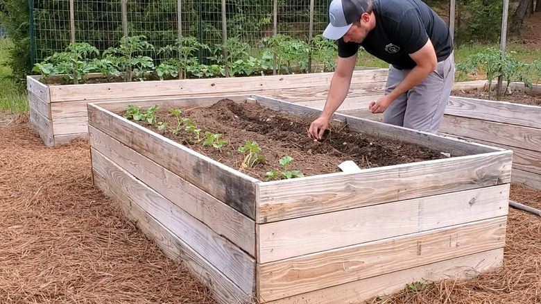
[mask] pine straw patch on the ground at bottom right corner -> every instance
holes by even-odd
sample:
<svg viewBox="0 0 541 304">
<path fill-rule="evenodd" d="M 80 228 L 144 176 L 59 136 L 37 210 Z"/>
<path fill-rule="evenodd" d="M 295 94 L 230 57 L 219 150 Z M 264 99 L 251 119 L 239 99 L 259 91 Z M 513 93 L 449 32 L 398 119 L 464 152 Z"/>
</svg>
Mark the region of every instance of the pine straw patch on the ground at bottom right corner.
<svg viewBox="0 0 541 304">
<path fill-rule="evenodd" d="M 541 210 L 541 191 L 511 185 L 510 199 Z M 541 303 L 541 217 L 509 208 L 504 265 L 474 280 L 445 280 L 419 292 L 394 294 L 378 304 Z"/>
</svg>

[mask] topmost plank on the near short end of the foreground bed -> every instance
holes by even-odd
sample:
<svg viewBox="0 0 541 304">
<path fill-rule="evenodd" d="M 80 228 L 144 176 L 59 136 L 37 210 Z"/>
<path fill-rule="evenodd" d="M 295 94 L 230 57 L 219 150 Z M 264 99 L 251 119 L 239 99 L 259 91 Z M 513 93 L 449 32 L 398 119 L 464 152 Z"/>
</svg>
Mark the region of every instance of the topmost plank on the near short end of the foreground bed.
<svg viewBox="0 0 541 304">
<path fill-rule="evenodd" d="M 256 222 L 509 183 L 512 157 L 501 151 L 260 183 Z"/>
</svg>

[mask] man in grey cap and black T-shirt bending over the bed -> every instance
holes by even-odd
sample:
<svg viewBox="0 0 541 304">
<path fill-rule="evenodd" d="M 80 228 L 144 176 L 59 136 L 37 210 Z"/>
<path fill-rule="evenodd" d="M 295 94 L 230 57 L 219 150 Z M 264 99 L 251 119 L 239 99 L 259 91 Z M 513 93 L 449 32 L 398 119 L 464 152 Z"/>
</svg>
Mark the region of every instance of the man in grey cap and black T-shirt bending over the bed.
<svg viewBox="0 0 541 304">
<path fill-rule="evenodd" d="M 357 51 L 390 64 L 385 96 L 372 101 L 384 123 L 436 133 L 454 81 L 453 42 L 443 20 L 420 0 L 333 0 L 323 36 L 338 40 L 338 65 L 325 108 L 310 125 L 321 139 L 350 89 Z"/>
</svg>

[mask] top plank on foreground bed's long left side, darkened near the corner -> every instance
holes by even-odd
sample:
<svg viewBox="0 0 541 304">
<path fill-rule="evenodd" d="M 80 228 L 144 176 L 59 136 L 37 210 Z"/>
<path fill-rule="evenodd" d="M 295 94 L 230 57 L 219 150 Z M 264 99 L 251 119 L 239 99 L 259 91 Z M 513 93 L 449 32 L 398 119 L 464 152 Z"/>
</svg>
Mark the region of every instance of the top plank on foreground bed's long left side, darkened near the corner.
<svg viewBox="0 0 541 304">
<path fill-rule="evenodd" d="M 96 105 L 89 104 L 88 109 L 89 124 L 94 128 L 130 146 L 250 219 L 255 218 L 255 183 L 259 180 Z"/>
</svg>

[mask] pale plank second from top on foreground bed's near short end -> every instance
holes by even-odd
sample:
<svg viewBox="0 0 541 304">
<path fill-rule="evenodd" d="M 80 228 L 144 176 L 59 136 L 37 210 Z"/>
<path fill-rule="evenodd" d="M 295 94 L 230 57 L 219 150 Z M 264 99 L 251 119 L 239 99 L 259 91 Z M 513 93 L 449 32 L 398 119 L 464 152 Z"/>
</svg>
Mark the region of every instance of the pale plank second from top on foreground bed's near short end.
<svg viewBox="0 0 541 304">
<path fill-rule="evenodd" d="M 509 184 L 257 225 L 261 264 L 507 214 Z M 298 246 L 302 239 L 302 246 Z M 325 239 L 325 242 L 321 242 Z"/>
</svg>

